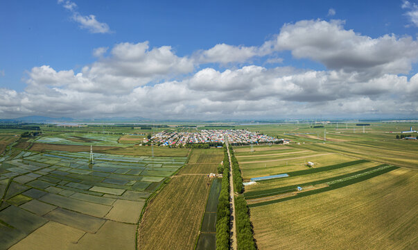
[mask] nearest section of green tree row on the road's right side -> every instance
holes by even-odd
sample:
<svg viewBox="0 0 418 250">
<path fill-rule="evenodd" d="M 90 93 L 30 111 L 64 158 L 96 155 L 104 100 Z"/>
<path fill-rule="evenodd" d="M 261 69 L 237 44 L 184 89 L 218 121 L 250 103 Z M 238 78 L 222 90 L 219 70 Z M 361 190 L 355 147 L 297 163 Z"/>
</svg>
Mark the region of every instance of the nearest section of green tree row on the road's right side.
<svg viewBox="0 0 418 250">
<path fill-rule="evenodd" d="M 236 244 L 238 249 L 257 249 L 247 202 L 242 195 L 235 199 Z"/>
</svg>

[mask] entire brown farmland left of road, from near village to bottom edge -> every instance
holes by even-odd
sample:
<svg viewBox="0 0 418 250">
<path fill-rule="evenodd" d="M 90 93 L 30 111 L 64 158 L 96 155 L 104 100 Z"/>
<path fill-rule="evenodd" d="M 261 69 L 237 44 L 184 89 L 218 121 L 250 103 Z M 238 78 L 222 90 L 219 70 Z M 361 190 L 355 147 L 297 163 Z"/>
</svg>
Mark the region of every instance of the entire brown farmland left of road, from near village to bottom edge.
<svg viewBox="0 0 418 250">
<path fill-rule="evenodd" d="M 203 219 L 205 210 L 207 213 L 216 211 L 217 201 L 217 198 L 214 199 L 215 191 L 211 192 L 207 201 L 213 185 L 213 180 L 207 175 L 216 172 L 222 158 L 222 149 L 191 151 L 187 164 L 150 199 L 139 226 L 139 249 L 170 249 L 173 246 L 194 249 L 200 226 L 203 232 L 213 230 L 216 223 L 214 217 Z M 214 233 L 204 235 L 199 244 L 214 247 L 211 235 Z"/>
</svg>

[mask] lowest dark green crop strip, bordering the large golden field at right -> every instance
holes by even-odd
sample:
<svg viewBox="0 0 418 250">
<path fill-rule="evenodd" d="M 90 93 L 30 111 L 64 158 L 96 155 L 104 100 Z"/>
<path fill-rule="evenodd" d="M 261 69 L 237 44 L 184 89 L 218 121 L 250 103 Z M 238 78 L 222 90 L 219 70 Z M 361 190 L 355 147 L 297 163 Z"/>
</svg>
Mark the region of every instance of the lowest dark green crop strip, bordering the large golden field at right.
<svg viewBox="0 0 418 250">
<path fill-rule="evenodd" d="M 272 200 L 272 201 L 265 201 L 265 202 L 260 202 L 260 203 L 254 203 L 254 204 L 250 204 L 248 206 L 250 208 L 254 208 L 254 207 L 257 207 L 257 206 L 264 206 L 264 205 L 269 205 L 269 204 L 273 204 L 273 203 L 279 203 L 279 202 L 282 202 L 282 201 L 288 201 L 290 199 L 297 199 L 297 198 L 300 198 L 300 197 L 306 197 L 306 196 L 311 195 L 311 194 L 319 194 L 321 192 L 326 192 L 326 191 L 329 191 L 329 190 L 335 190 L 337 188 L 344 188 L 347 185 L 351 185 L 351 184 L 354 184 L 354 183 L 358 183 L 360 181 L 365 181 L 365 180 L 367 180 L 369 178 L 372 178 L 372 177 L 375 177 L 375 176 L 379 176 L 381 174 L 385 174 L 387 172 L 390 172 L 390 171 L 392 171 L 394 169 L 398 169 L 398 168 L 399 167 L 394 167 L 394 166 L 387 167 L 385 169 L 381 169 L 381 170 L 378 170 L 376 172 L 372 172 L 370 174 L 365 174 L 363 176 L 359 176 L 358 178 L 350 178 L 347 181 L 341 181 L 341 182 L 338 182 L 338 183 L 333 183 L 333 184 L 329 185 L 326 188 L 320 188 L 320 189 L 317 189 L 317 190 L 306 191 L 306 192 L 299 193 L 299 194 L 297 194 L 296 196 L 293 196 L 293 197 L 286 197 L 284 199 L 277 199 L 277 200 Z"/>
</svg>

